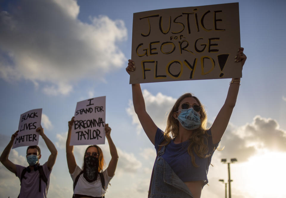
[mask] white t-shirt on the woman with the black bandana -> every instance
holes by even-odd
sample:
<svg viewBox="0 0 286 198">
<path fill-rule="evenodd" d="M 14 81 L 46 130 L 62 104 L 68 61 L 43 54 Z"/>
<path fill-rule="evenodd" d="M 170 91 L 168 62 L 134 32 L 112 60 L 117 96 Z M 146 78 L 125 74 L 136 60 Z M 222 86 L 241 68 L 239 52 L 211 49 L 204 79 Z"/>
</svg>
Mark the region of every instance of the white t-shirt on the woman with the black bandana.
<svg viewBox="0 0 286 198">
<path fill-rule="evenodd" d="M 77 177 L 77 175 L 80 174 L 81 171 L 82 170 L 77 165 L 75 167 L 74 172 L 71 174 L 71 179 L 73 182 L 75 178 Z M 102 174 L 104 176 L 105 189 L 102 188 L 99 175 L 97 176 L 97 180 L 95 180 L 94 182 L 88 182 L 83 177 L 83 174 L 81 174 L 80 177 L 78 178 L 77 185 L 74 188 L 74 194 L 89 195 L 92 197 L 102 197 L 105 194 L 108 184 L 113 177 L 113 176 L 112 177 L 108 176 L 107 169 L 105 169 L 105 171 L 103 171 Z"/>
</svg>

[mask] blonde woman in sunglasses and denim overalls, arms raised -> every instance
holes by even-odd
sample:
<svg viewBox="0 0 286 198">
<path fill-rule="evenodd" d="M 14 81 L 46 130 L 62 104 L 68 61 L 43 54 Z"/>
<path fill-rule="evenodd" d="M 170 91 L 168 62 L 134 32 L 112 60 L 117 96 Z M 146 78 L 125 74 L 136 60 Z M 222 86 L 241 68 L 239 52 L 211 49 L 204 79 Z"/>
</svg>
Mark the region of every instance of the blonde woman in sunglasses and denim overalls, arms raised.
<svg viewBox="0 0 286 198">
<path fill-rule="evenodd" d="M 246 60 L 243 50 L 240 47 L 234 57 L 234 62 L 241 62 L 241 67 Z M 130 75 L 135 69 L 133 60 L 129 60 L 127 73 Z M 204 106 L 192 93 L 185 93 L 172 107 L 163 132 L 146 112 L 140 84 L 132 84 L 134 110 L 157 152 L 148 198 L 200 198 L 203 186 L 208 183 L 212 155 L 229 123 L 239 87 L 240 78 L 233 78 L 226 101 L 209 129 Z"/>
</svg>

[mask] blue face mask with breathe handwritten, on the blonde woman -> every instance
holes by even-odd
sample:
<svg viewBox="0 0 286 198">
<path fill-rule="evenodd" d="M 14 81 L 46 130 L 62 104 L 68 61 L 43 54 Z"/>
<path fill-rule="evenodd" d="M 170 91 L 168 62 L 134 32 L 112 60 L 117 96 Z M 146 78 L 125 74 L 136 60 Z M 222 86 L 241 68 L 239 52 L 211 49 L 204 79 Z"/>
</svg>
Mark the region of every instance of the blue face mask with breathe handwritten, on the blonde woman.
<svg viewBox="0 0 286 198">
<path fill-rule="evenodd" d="M 193 108 L 182 109 L 177 119 L 185 129 L 192 130 L 200 127 L 200 113 Z"/>
</svg>

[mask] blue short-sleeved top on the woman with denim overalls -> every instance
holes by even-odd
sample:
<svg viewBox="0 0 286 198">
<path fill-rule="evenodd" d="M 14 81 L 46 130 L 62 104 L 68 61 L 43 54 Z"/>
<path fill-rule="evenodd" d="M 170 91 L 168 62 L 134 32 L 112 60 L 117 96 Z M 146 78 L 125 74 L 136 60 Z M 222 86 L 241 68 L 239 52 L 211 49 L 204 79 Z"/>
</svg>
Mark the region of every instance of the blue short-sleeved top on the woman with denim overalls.
<svg viewBox="0 0 286 198">
<path fill-rule="evenodd" d="M 162 155 L 162 158 L 170 165 L 175 174 L 183 182 L 190 181 L 203 181 L 203 185 L 208 183 L 207 174 L 209 171 L 209 165 L 211 163 L 212 155 L 217 148 L 218 144 L 213 144 L 212 142 L 212 133 L 211 130 L 207 130 L 206 138 L 208 140 L 208 157 L 200 158 L 197 154 L 194 153 L 195 162 L 199 167 L 195 167 L 192 164 L 191 156 L 189 155 L 187 148 L 189 146 L 189 141 L 175 144 L 173 140 L 166 145 L 165 152 Z M 164 132 L 161 129 L 157 129 L 155 136 L 155 148 L 158 153 L 158 148 L 161 142 L 164 140 Z"/>
</svg>

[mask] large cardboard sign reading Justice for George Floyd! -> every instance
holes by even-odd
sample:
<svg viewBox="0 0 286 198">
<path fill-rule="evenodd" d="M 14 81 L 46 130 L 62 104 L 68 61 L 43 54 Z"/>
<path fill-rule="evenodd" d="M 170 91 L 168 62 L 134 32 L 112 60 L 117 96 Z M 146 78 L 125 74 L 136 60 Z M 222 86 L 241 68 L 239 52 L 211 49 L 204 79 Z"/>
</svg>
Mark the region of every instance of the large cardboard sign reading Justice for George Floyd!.
<svg viewBox="0 0 286 198">
<path fill-rule="evenodd" d="M 242 76 L 238 3 L 133 14 L 130 84 Z"/>
</svg>

